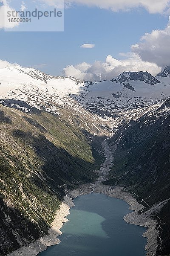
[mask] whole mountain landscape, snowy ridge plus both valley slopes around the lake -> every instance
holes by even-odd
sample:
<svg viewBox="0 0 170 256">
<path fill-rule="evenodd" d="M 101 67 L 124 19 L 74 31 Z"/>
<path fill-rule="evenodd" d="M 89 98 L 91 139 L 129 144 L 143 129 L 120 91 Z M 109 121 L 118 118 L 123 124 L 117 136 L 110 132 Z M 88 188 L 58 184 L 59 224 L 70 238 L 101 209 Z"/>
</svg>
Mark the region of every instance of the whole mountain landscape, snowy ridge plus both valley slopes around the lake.
<svg viewBox="0 0 170 256">
<path fill-rule="evenodd" d="M 154 208 L 157 255 L 170 253 L 170 67 L 94 82 L 10 65 L 0 104 L 0 255 L 46 233 L 65 190 L 96 179 L 108 137 L 104 183 Z"/>
</svg>

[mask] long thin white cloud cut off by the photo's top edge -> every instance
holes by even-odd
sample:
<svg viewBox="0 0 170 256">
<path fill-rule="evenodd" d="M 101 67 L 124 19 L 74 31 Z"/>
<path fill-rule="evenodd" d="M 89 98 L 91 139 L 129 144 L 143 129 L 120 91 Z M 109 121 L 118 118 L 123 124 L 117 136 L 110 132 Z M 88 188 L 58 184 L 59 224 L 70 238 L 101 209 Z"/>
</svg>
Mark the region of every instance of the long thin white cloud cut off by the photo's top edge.
<svg viewBox="0 0 170 256">
<path fill-rule="evenodd" d="M 49 5 L 57 5 L 59 0 L 41 0 Z M 150 13 L 163 13 L 170 8 L 170 0 L 65 0 L 66 5 L 82 4 L 86 6 L 97 6 L 103 9 L 111 9 L 113 12 L 119 10 L 128 11 L 136 7 L 144 7 Z"/>
</svg>

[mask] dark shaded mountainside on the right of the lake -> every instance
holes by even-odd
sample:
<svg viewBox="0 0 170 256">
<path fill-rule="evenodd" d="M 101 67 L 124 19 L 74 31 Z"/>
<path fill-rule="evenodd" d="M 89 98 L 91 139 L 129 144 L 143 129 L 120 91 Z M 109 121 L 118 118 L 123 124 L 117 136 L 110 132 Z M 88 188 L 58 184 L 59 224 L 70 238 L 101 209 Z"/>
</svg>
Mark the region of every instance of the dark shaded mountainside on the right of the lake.
<svg viewBox="0 0 170 256">
<path fill-rule="evenodd" d="M 163 111 L 167 108 L 167 111 Z M 160 108 L 144 114 L 137 122 L 131 122 L 122 130 L 115 162 L 110 174 L 113 179 L 105 184 L 121 185 L 144 205 L 153 209 L 167 201 L 155 214 L 160 231 L 161 245 L 156 255 L 170 253 L 170 99 Z M 161 111 L 162 110 L 162 111 Z M 115 141 L 110 139 L 110 145 Z M 135 193 L 135 194 L 134 194 Z M 144 210 L 144 211 L 145 211 Z M 161 220 L 161 221 L 160 221 Z"/>
</svg>

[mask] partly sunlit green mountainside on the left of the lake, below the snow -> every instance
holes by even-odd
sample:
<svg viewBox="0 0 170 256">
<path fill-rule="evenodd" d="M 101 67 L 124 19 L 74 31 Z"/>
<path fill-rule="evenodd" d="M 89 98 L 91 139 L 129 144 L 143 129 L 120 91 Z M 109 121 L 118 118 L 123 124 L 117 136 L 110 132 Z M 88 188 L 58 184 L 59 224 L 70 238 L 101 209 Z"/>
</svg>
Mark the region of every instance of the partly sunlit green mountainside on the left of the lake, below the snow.
<svg viewBox="0 0 170 256">
<path fill-rule="evenodd" d="M 0 255 L 47 233 L 63 198 L 100 164 L 79 126 L 0 106 Z"/>
</svg>

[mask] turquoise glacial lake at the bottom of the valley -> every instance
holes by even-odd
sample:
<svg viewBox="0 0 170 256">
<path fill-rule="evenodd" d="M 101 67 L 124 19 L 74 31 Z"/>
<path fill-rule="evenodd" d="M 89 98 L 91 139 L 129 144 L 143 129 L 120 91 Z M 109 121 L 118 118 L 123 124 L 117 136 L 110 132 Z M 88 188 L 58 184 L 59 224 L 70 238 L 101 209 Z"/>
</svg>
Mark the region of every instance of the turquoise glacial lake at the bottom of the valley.
<svg viewBox="0 0 170 256">
<path fill-rule="evenodd" d="M 128 224 L 123 217 L 132 212 L 120 199 L 103 194 L 81 195 L 74 200 L 69 219 L 62 228 L 61 242 L 38 256 L 144 256 L 144 227 Z"/>
</svg>

